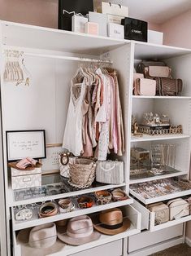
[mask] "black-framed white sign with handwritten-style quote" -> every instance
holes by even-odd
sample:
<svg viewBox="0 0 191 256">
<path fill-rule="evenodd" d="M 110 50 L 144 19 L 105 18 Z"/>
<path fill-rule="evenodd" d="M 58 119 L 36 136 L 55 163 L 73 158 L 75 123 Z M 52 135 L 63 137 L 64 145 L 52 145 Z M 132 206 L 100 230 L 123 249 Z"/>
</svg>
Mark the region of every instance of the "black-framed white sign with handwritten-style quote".
<svg viewBox="0 0 191 256">
<path fill-rule="evenodd" d="M 7 130 L 7 160 L 16 161 L 24 157 L 41 159 L 46 157 L 45 130 Z"/>
</svg>

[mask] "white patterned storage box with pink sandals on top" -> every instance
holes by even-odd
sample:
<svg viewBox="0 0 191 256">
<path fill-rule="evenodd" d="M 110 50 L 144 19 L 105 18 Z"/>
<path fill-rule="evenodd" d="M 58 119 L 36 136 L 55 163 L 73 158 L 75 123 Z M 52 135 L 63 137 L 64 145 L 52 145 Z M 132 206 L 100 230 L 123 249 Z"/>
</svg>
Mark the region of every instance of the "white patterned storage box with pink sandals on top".
<svg viewBox="0 0 191 256">
<path fill-rule="evenodd" d="M 34 170 L 17 170 L 11 167 L 12 189 L 41 186 L 41 167 Z"/>
</svg>

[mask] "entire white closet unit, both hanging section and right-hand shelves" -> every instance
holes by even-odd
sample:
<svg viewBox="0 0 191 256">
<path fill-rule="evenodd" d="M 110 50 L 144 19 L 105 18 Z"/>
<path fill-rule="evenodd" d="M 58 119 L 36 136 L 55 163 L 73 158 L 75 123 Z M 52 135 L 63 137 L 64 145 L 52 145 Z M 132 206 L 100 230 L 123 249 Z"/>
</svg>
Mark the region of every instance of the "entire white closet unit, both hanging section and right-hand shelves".
<svg viewBox="0 0 191 256">
<path fill-rule="evenodd" d="M 67 245 L 62 251 L 57 252 L 55 255 L 76 254 L 77 256 L 81 255 L 80 252 L 82 251 L 84 251 L 84 254 L 97 255 L 99 253 L 104 254 L 108 252 L 108 249 L 110 249 L 111 256 L 126 255 L 127 252 L 131 252 L 129 248 L 131 248 L 132 237 L 137 237 L 137 241 L 141 241 L 139 238 L 143 234 L 139 234 L 141 229 L 154 232 L 159 229 L 163 230 L 165 227 L 171 227 L 163 231 L 167 234 L 165 236 L 167 239 L 173 238 L 176 241 L 177 236 L 181 236 L 182 239 L 184 239 L 182 225 L 177 227 L 176 235 L 174 235 L 173 226 L 188 221 L 191 219 L 190 216 L 171 221 L 171 223 L 167 222 L 163 225 L 154 226 L 154 216 L 146 209 L 144 202 L 140 203 L 142 197 L 132 192 L 131 186 L 136 186 L 137 183 L 141 182 L 147 183 L 163 179 L 172 179 L 176 176 L 180 176 L 184 179 L 188 178 L 190 154 L 189 136 L 191 135 L 191 88 L 189 87 L 189 83 L 191 81 L 189 72 L 188 76 L 181 76 L 184 68 L 188 67 L 187 62 L 190 62 L 189 54 L 191 51 L 170 46 L 154 46 L 149 43 L 102 38 L 57 29 L 14 24 L 5 21 L 1 22 L 0 36 L 2 140 L 4 158 L 4 171 L 1 173 L 0 179 L 1 195 L 3 195 L 5 191 L 5 201 L 3 201 L 3 213 L 5 212 L 5 216 L 1 218 L 1 226 L 2 230 L 7 230 L 7 234 L 1 234 L 2 255 L 9 256 L 12 253 L 15 256 L 25 256 L 22 254 L 22 246 L 18 243 L 17 235 L 20 230 L 25 230 L 26 227 L 53 223 L 83 214 L 99 214 L 102 210 L 109 210 L 115 207 L 119 207 L 123 210 L 124 218 L 129 218 L 132 223 L 131 227 L 126 232 L 114 236 L 102 235 L 98 241 L 93 241 L 85 245 L 75 247 Z M 24 40 L 20 40 L 20 38 L 24 38 Z M 28 75 L 29 79 L 27 80 L 29 85 L 27 83 L 27 86 L 25 86 L 25 84 L 15 86 L 15 83 L 4 82 L 2 73 L 6 62 L 5 51 L 7 50 L 22 52 L 24 65 L 30 73 L 30 76 Z M 152 59 L 155 57 L 165 61 L 167 59 L 167 64 L 171 65 L 172 68 L 174 66 L 177 76 L 183 79 L 184 89 L 181 96 L 132 95 L 134 64 L 137 63 L 137 60 Z M 181 61 L 178 61 L 179 59 L 181 59 Z M 92 187 L 83 190 L 76 190 L 64 186 L 64 190 L 60 190 L 58 186 L 60 182 L 65 185 L 64 180 L 61 181 L 60 178 L 58 179 L 58 174 L 54 174 L 42 176 L 43 185 L 41 188 L 36 188 L 36 192 L 30 189 L 13 192 L 9 174 L 7 173 L 6 130 L 45 129 L 46 143 L 59 144 L 63 138 L 63 127 L 67 119 L 70 78 L 73 76 L 79 63 L 101 64 L 102 62 L 103 64 L 113 64 L 113 67 L 119 71 L 119 94 L 124 115 L 126 150 L 124 156 L 118 157 L 118 159 L 119 161 L 124 161 L 124 183 L 119 185 L 95 183 Z M 180 67 L 180 63 L 182 63 L 182 68 Z M 137 122 L 139 123 L 143 113 L 150 112 L 169 114 L 172 124 L 182 126 L 182 134 L 143 135 L 141 137 L 131 136 L 132 115 L 136 116 Z M 149 150 L 151 145 L 158 143 L 176 144 L 175 166 L 170 170 L 170 173 L 131 179 L 131 148 L 140 147 Z M 54 192 L 50 194 L 46 193 L 46 186 L 54 186 Z M 93 205 L 88 209 L 76 209 L 69 213 L 56 214 L 47 218 L 38 218 L 38 216 L 34 214 L 31 220 L 15 221 L 17 209 L 25 207 L 25 205 L 28 204 L 35 205 L 38 202 L 57 201 L 68 197 L 74 198 L 76 204 L 76 196 L 88 196 L 100 190 L 113 190 L 115 188 L 124 190 L 129 198 L 124 201 L 111 202 L 106 205 Z M 133 198 L 130 196 L 131 192 Z M 177 193 L 172 193 L 171 198 L 184 196 L 185 194 L 189 195 L 189 189 L 178 193 L 178 195 Z M 152 200 L 158 201 L 158 197 L 154 197 Z M 162 197 L 163 198 L 160 198 L 161 201 L 167 200 L 167 195 L 163 195 Z M 145 199 L 142 201 L 145 201 Z M 149 236 L 150 231 L 146 231 L 144 237 Z M 152 236 L 157 236 L 157 234 L 155 235 L 153 233 Z M 150 245 L 152 242 L 151 239 Z M 165 243 L 165 241 L 163 242 Z M 110 245 L 109 248 L 107 244 Z M 139 243 L 137 242 L 137 244 Z M 153 242 L 153 245 L 157 245 L 157 242 Z M 111 248 L 114 249 L 111 250 Z M 134 249 L 134 251 L 136 250 L 137 249 Z"/>
</svg>

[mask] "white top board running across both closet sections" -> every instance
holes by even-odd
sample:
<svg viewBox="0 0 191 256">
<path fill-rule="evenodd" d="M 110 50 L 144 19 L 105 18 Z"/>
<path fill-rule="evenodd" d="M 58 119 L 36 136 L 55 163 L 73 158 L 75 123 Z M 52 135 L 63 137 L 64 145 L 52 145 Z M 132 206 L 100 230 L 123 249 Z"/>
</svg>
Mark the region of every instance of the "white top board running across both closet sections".
<svg viewBox="0 0 191 256">
<path fill-rule="evenodd" d="M 2 26 L 2 44 L 4 46 L 102 55 L 106 51 L 132 43 L 135 45 L 135 59 L 137 60 L 167 59 L 173 56 L 191 54 L 191 49 L 93 36 L 86 33 L 74 33 L 4 20 L 0 20 L 0 25 Z"/>
</svg>

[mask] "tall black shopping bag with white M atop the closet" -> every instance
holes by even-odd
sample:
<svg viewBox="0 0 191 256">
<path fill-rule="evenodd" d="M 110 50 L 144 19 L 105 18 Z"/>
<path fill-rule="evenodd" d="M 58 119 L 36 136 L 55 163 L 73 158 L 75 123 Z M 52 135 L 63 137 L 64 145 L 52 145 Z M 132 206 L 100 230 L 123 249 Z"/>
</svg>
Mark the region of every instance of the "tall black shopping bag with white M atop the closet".
<svg viewBox="0 0 191 256">
<path fill-rule="evenodd" d="M 72 31 L 74 12 L 86 15 L 89 11 L 93 11 L 93 0 L 59 0 L 59 29 Z"/>
</svg>

